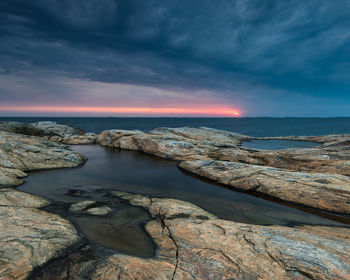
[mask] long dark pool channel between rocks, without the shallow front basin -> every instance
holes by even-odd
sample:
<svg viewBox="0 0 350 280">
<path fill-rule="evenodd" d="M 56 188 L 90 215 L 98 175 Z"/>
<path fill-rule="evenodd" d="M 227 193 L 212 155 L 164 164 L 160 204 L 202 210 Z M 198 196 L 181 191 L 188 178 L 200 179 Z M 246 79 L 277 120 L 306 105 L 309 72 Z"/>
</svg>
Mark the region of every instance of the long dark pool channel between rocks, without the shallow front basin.
<svg viewBox="0 0 350 280">
<path fill-rule="evenodd" d="M 89 159 L 84 166 L 32 173 L 20 189 L 63 202 L 84 199 L 67 195 L 71 189 L 85 191 L 88 199 L 97 201 L 109 199 L 98 190 L 114 189 L 189 201 L 220 218 L 237 222 L 260 225 L 340 224 L 335 221 L 337 216 L 322 217 L 198 180 L 180 171 L 176 163 L 153 156 L 92 145 L 73 148 Z M 348 222 L 348 218 L 343 218 L 343 221 Z"/>
</svg>

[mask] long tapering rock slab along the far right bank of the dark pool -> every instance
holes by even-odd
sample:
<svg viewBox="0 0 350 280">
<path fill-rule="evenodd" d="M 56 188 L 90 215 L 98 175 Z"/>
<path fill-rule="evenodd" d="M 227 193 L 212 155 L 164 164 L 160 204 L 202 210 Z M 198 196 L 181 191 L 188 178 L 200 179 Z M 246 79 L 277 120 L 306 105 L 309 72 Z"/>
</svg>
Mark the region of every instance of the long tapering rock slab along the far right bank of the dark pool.
<svg viewBox="0 0 350 280">
<path fill-rule="evenodd" d="M 244 191 L 320 210 L 350 214 L 350 178 L 227 161 L 184 161 L 180 168 Z"/>
</svg>

